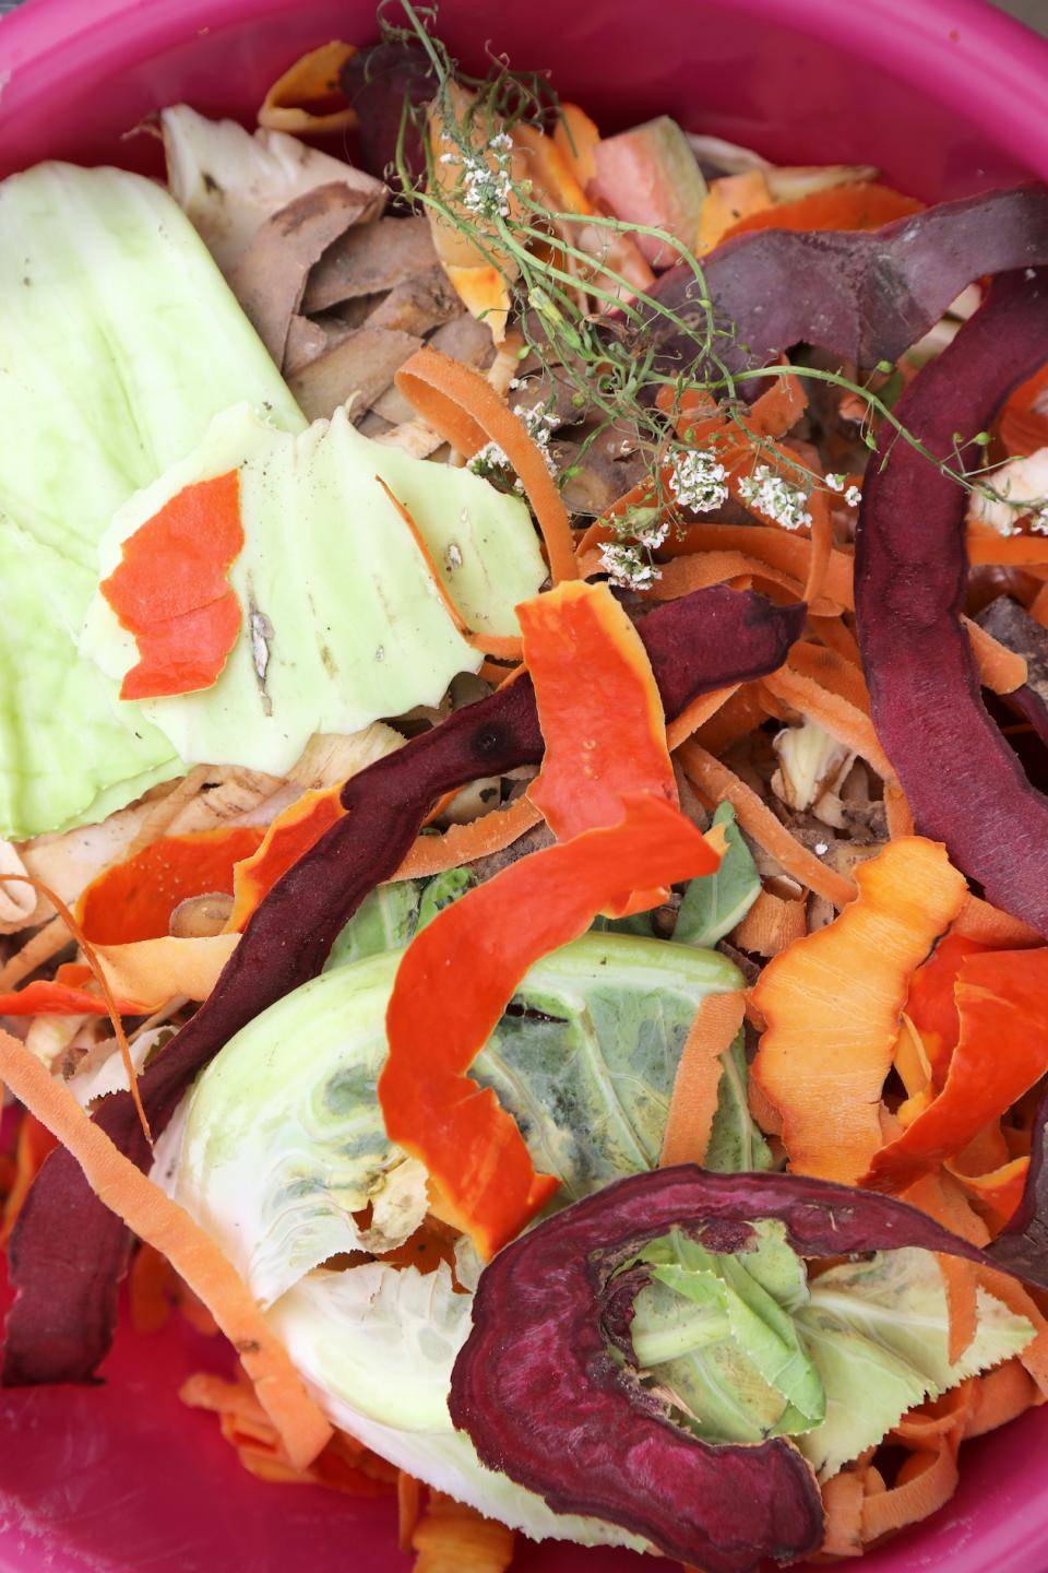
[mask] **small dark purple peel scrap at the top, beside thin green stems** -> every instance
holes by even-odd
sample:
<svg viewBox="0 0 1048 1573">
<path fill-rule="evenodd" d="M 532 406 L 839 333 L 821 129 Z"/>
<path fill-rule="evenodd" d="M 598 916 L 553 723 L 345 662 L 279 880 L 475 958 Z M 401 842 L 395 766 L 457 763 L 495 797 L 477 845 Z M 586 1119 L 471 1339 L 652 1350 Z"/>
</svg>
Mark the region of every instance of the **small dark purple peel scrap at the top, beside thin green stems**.
<svg viewBox="0 0 1048 1573">
<path fill-rule="evenodd" d="M 390 179 L 404 105 L 420 109 L 437 91 L 426 50 L 394 41 L 360 49 L 343 66 L 341 88 L 360 118 L 357 148 L 361 168 L 380 181 Z M 404 127 L 404 159 L 412 178 L 421 179 L 426 154 L 410 118 Z M 396 179 L 391 184 L 396 187 Z"/>
</svg>

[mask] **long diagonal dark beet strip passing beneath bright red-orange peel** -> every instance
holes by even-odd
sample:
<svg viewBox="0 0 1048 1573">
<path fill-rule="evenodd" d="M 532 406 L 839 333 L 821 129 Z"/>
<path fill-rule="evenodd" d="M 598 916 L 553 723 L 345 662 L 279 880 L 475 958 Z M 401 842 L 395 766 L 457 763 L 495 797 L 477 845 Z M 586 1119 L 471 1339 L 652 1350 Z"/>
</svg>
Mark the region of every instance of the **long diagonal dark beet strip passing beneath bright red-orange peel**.
<svg viewBox="0 0 1048 1573">
<path fill-rule="evenodd" d="M 776 607 L 720 585 L 643 617 L 638 629 L 668 717 L 698 694 L 779 667 L 804 613 L 803 606 Z M 368 892 L 396 873 L 442 793 L 540 758 L 525 675 L 354 775 L 343 790 L 346 818 L 259 904 L 211 997 L 140 1078 L 154 1136 L 236 1032 L 321 972 L 336 934 Z M 138 1167 L 149 1166 L 127 1093 L 105 1098 L 94 1118 Z M 11 1235 L 8 1266 L 19 1293 L 6 1324 L 5 1386 L 91 1380 L 113 1340 L 127 1252 L 124 1225 L 57 1148 Z"/>
</svg>

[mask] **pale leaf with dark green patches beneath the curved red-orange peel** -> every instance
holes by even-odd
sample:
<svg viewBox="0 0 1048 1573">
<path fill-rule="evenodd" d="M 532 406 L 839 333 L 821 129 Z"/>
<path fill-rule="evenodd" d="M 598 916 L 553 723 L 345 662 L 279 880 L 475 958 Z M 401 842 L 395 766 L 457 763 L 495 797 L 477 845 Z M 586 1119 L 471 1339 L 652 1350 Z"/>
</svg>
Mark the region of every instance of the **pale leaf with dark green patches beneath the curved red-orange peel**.
<svg viewBox="0 0 1048 1573">
<path fill-rule="evenodd" d="M 190 1095 L 173 1194 L 262 1304 L 339 1252 L 401 1244 L 426 1213 L 424 1170 L 388 1140 L 376 1093 L 399 960 L 380 952 L 295 989 Z M 658 1161 L 691 1016 L 737 985 L 713 952 L 588 934 L 528 972 L 473 1074 L 562 1199 L 584 1195 Z"/>
</svg>

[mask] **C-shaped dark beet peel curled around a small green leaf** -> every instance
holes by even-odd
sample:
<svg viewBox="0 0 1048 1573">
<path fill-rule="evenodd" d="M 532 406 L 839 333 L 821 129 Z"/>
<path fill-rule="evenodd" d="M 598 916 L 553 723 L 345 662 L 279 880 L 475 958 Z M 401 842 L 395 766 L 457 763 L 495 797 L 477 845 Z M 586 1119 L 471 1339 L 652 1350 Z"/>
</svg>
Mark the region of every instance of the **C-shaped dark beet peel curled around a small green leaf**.
<svg viewBox="0 0 1048 1573">
<path fill-rule="evenodd" d="M 817 1551 L 819 1486 L 789 1441 L 702 1442 L 611 1354 L 613 1343 L 632 1354 L 630 1306 L 644 1282 L 616 1269 L 646 1241 L 685 1229 L 707 1251 L 745 1251 L 759 1219 L 786 1224 L 804 1257 L 921 1246 L 987 1263 L 924 1213 L 825 1180 L 694 1164 L 619 1180 L 500 1251 L 481 1274 L 449 1398 L 481 1461 L 555 1512 L 621 1524 L 705 1573 Z"/>
</svg>

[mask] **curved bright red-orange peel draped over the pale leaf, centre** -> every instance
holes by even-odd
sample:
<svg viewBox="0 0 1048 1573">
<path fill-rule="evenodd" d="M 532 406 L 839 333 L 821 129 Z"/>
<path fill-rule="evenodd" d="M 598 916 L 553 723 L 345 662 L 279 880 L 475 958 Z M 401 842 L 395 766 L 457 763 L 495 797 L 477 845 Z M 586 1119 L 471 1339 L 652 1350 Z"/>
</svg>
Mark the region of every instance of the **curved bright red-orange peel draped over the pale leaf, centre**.
<svg viewBox="0 0 1048 1573">
<path fill-rule="evenodd" d="M 514 1120 L 465 1071 L 539 956 L 584 933 L 624 890 L 710 873 L 716 862 L 665 799 L 635 798 L 616 826 L 533 853 L 475 886 L 404 953 L 379 1081 L 387 1131 L 426 1164 L 442 1216 L 486 1258 L 558 1183 L 536 1173 Z"/>
</svg>

